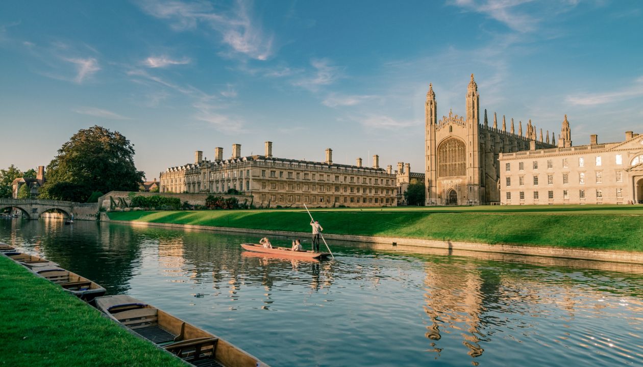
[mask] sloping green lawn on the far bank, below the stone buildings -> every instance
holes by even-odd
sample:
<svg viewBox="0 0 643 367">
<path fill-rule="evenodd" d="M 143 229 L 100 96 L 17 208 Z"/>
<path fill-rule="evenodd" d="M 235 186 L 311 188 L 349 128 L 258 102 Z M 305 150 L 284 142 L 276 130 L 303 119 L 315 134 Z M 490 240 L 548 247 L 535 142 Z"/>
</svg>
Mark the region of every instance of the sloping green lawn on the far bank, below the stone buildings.
<svg viewBox="0 0 643 367">
<path fill-rule="evenodd" d="M 641 206 L 319 209 L 324 233 L 643 251 Z M 310 231 L 305 210 L 129 211 L 113 220 Z"/>
</svg>

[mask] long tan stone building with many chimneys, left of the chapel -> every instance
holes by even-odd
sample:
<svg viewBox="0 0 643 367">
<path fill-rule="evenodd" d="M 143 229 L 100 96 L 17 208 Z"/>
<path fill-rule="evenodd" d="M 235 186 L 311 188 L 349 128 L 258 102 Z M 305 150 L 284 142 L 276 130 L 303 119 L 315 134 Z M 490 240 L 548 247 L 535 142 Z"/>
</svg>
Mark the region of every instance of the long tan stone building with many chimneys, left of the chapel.
<svg viewBox="0 0 643 367">
<path fill-rule="evenodd" d="M 215 148 L 214 159 L 195 152 L 194 163 L 161 172 L 160 192 L 226 193 L 230 189 L 253 196 L 255 207 L 395 206 L 395 175 L 391 167 L 338 165 L 331 148 L 324 162 L 273 157 L 273 143 L 266 141 L 264 156 L 242 156 L 241 145 L 232 145 L 232 156 L 223 158 Z"/>
</svg>

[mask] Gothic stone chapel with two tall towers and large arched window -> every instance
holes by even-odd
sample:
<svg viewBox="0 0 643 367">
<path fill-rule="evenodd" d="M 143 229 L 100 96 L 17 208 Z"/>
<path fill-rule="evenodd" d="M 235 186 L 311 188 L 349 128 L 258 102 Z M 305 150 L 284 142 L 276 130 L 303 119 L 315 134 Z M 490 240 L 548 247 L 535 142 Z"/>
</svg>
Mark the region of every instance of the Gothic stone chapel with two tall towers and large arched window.
<svg viewBox="0 0 643 367">
<path fill-rule="evenodd" d="M 426 204 L 427 205 L 479 205 L 500 202 L 500 153 L 519 152 L 530 148 L 551 148 L 549 132 L 543 139 L 543 129 L 537 129 L 531 120 L 523 134 L 522 122 L 518 132 L 511 119 L 507 130 L 505 116 L 502 129 L 494 113 L 493 126 L 480 123 L 480 96 L 478 85 L 471 75 L 467 88 L 466 114 L 438 120 L 437 102 L 433 85 L 429 84 L 425 105 L 425 154 L 426 154 Z"/>
</svg>

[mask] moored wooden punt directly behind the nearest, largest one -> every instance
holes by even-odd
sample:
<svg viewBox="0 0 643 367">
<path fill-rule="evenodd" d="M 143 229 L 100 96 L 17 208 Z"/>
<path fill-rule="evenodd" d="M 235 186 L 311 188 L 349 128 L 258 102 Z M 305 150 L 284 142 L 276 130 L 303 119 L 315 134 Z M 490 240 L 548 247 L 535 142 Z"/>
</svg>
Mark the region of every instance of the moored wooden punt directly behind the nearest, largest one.
<svg viewBox="0 0 643 367">
<path fill-rule="evenodd" d="M 87 278 L 71 273 L 71 271 L 56 266 L 32 268 L 33 273 L 56 283 L 65 291 L 74 294 L 83 301 L 91 302 L 96 297 L 103 296 L 105 289 Z"/>
</svg>

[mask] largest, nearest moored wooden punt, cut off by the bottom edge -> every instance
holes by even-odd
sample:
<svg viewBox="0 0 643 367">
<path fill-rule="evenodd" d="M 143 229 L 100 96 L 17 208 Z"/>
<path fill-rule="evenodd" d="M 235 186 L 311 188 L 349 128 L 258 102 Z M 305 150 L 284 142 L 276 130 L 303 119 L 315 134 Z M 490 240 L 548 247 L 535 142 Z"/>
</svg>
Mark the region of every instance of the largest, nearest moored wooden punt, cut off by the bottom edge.
<svg viewBox="0 0 643 367">
<path fill-rule="evenodd" d="M 227 341 L 124 294 L 96 298 L 96 308 L 194 366 L 267 367 Z"/>
</svg>

